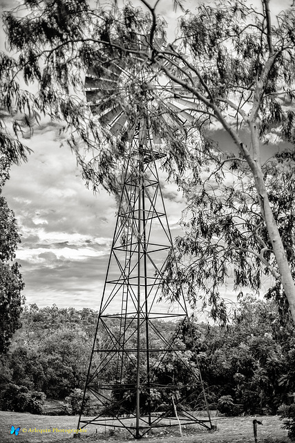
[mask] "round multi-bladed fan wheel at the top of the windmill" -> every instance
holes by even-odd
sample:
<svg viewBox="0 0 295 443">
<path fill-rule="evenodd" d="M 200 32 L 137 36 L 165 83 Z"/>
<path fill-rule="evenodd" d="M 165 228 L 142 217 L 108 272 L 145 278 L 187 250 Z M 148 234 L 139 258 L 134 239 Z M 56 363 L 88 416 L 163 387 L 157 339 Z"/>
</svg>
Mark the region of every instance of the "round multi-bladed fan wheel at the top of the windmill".
<svg viewBox="0 0 295 443">
<path fill-rule="evenodd" d="M 137 44 L 139 48 L 147 49 L 146 35 L 137 35 Z M 158 38 L 157 44 L 163 46 L 163 39 Z M 126 134 L 129 120 L 133 121 L 133 125 L 138 117 L 140 144 L 147 143 L 149 133 L 153 145 L 162 145 L 165 126 L 168 136 L 173 128 L 181 129 L 193 123 L 195 119 L 190 111 L 193 110 L 193 102 L 184 94 L 182 87 L 171 80 L 163 84 L 160 71 L 142 62 L 142 58 L 133 55 L 126 60 L 115 57 L 112 48 L 106 49 L 105 54 L 97 53 L 97 60 L 88 69 L 85 78 L 86 100 L 100 125 L 113 136 L 120 136 L 123 129 Z M 169 97 L 171 92 L 174 97 Z M 183 100 L 178 97 L 182 94 Z M 142 106 L 143 100 L 146 106 Z M 162 122 L 160 132 L 157 131 L 157 120 Z"/>
</svg>

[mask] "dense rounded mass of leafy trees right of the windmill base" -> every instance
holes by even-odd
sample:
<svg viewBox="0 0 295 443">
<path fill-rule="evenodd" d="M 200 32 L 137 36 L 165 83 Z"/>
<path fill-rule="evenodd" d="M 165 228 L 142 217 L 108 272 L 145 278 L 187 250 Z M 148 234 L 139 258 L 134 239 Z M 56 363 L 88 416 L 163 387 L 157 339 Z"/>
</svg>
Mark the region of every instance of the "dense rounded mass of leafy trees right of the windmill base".
<svg viewBox="0 0 295 443">
<path fill-rule="evenodd" d="M 280 325 L 274 302 L 245 296 L 229 327 L 201 330 L 198 356 L 211 401 L 220 399 L 228 413 L 250 414 L 274 414 L 280 404 L 292 401 L 293 384 L 286 383 L 291 374 L 285 379 L 283 374 L 292 367 L 288 354 L 294 346 L 294 327 Z M 225 396 L 232 404 L 224 404 Z"/>
</svg>

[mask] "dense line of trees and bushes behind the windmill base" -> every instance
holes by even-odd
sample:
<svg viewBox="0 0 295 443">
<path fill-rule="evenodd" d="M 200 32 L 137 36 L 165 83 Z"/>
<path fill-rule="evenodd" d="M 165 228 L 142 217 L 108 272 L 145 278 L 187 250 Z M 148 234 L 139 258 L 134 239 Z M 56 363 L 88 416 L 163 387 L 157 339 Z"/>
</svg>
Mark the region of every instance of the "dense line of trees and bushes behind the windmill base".
<svg viewBox="0 0 295 443">
<path fill-rule="evenodd" d="M 26 306 L 22 326 L 0 360 L 1 409 L 46 413 L 47 399 L 49 404 L 59 401 L 55 413 L 79 413 L 97 315 L 88 308 Z M 280 406 L 292 405 L 294 327 L 282 325 L 273 302 L 254 296 L 242 298 L 227 327 L 191 321 L 193 334 L 187 322 L 158 320 L 157 327 L 165 336 L 176 331 L 182 346 L 192 350 L 189 364 L 198 365 L 202 372 L 209 408 L 226 415 L 276 414 Z M 151 345 L 153 340 L 156 337 L 151 335 Z M 111 371 L 110 365 L 106 377 L 112 377 Z M 169 383 L 172 378 L 174 384 L 185 383 L 187 371 L 171 356 L 162 360 L 158 371 L 160 383 Z M 127 384 L 130 381 L 126 379 Z M 160 410 L 164 400 L 153 398 L 154 410 Z M 130 399 L 124 404 L 125 410 L 132 411 L 133 406 Z M 184 406 L 204 408 L 190 395 Z M 85 413 L 94 413 L 95 408 L 88 398 Z"/>
</svg>

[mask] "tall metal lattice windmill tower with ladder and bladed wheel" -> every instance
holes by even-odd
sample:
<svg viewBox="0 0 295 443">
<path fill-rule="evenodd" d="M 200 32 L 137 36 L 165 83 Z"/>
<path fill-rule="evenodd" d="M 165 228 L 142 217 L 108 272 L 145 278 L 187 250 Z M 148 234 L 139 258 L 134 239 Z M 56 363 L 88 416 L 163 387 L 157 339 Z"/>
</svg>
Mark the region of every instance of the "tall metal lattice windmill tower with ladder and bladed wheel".
<svg viewBox="0 0 295 443">
<path fill-rule="evenodd" d="M 97 111 L 95 98 L 100 101 L 108 89 L 113 91 L 113 82 L 122 75 L 125 67 L 112 64 L 103 75 L 92 71 L 86 78 L 93 114 L 97 112 L 113 136 L 129 123 L 124 107 Z M 126 428 L 135 438 L 160 426 L 211 428 L 200 370 L 189 360 L 191 350 L 185 349 L 176 332 L 171 336 L 163 332 L 164 320 L 176 324 L 189 320 L 189 315 L 182 294 L 177 302 L 165 305 L 166 311 L 158 303 L 173 243 L 156 165 L 166 154 L 147 111 L 142 111 L 149 108 L 147 100 L 155 100 L 155 88 L 146 84 L 142 76 L 138 89 L 146 107 L 137 107 L 137 118 L 127 129 L 129 153 L 84 391 L 84 399 L 88 392 L 99 408 L 96 417 L 80 416 L 78 424 L 78 428 L 90 424 Z M 180 101 L 175 117 L 178 125 L 191 118 L 181 105 Z M 184 407 L 188 398 L 198 396 L 207 408 L 205 419 Z"/>
</svg>

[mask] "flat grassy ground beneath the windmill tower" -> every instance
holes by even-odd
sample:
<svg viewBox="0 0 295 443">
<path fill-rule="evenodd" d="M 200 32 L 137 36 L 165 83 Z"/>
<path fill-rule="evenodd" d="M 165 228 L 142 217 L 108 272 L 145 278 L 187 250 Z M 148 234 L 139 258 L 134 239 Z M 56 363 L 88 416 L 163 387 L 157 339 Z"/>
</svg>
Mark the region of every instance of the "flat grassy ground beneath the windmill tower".
<svg viewBox="0 0 295 443">
<path fill-rule="evenodd" d="M 258 443 L 290 443 L 287 431 L 282 429 L 279 417 L 213 417 L 217 431 L 205 431 L 202 428 L 183 428 L 182 437 L 178 427 L 160 428 L 142 440 L 153 443 L 254 443 L 253 419 L 263 422 L 257 427 Z M 120 428 L 110 429 L 104 426 L 87 426 L 87 432 L 80 439 L 73 440 L 73 431 L 77 428 L 77 417 L 48 416 L 0 411 L 0 443 L 81 443 L 106 442 L 130 443 L 135 441 L 129 433 Z M 19 435 L 10 435 L 11 425 L 21 427 Z M 43 433 L 36 432 L 44 430 Z M 58 430 L 58 432 L 57 432 Z M 49 432 L 50 431 L 50 432 Z M 64 431 L 64 432 L 63 432 Z"/>
</svg>

